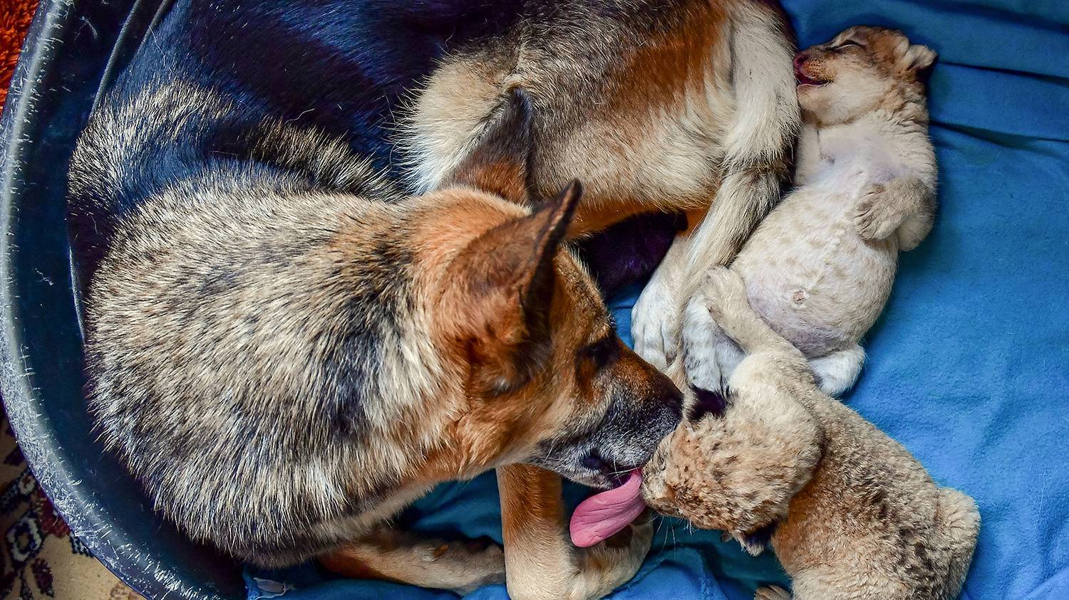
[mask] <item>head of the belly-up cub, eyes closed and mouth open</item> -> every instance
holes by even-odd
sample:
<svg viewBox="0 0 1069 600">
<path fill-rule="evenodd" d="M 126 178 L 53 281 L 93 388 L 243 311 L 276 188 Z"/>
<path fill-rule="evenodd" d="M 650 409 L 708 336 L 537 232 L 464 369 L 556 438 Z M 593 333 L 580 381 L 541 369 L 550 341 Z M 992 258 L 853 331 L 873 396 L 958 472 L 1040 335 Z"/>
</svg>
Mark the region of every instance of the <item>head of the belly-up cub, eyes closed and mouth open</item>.
<svg viewBox="0 0 1069 600">
<path fill-rule="evenodd" d="M 914 100 L 923 91 L 921 75 L 934 61 L 935 52 L 910 44 L 900 31 L 852 27 L 794 58 L 803 116 L 835 125 L 880 106 Z"/>
</svg>

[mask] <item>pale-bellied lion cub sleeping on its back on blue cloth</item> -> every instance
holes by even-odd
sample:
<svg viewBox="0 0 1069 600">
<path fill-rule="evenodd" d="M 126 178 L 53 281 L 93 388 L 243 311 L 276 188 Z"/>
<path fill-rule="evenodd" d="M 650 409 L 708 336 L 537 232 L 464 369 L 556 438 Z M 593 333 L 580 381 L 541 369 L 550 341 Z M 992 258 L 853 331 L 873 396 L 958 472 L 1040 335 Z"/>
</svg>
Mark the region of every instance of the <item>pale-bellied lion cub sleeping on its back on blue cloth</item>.
<svg viewBox="0 0 1069 600">
<path fill-rule="evenodd" d="M 804 119 L 796 187 L 731 269 L 754 310 L 802 350 L 832 395 L 861 372 L 858 343 L 890 295 L 899 250 L 932 226 L 935 156 L 918 76 L 934 59 L 902 33 L 872 27 L 794 59 Z M 701 298 L 687 306 L 683 335 L 691 383 L 722 389 L 742 352 Z"/>
</svg>

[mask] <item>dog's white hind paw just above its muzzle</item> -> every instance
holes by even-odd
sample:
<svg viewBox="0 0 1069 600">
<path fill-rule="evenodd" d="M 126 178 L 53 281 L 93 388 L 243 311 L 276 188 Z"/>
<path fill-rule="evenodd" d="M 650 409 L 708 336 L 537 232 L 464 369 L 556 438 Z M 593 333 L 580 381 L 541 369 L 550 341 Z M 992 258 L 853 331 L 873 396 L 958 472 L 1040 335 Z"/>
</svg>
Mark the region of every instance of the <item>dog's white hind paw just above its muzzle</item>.
<svg viewBox="0 0 1069 600">
<path fill-rule="evenodd" d="M 635 352 L 661 370 L 676 359 L 679 345 L 678 294 L 667 279 L 654 277 L 631 311 Z"/>
</svg>

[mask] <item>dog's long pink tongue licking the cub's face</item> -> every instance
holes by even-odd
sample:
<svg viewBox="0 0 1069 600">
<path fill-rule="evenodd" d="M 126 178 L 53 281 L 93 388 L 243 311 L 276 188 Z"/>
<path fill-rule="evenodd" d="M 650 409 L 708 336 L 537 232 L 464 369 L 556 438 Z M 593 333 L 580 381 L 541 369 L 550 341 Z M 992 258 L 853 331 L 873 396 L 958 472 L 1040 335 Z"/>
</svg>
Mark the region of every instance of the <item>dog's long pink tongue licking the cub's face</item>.
<svg viewBox="0 0 1069 600">
<path fill-rule="evenodd" d="M 572 543 L 588 548 L 626 527 L 646 508 L 641 488 L 642 472 L 635 469 L 619 488 L 584 500 L 572 512 Z"/>
</svg>

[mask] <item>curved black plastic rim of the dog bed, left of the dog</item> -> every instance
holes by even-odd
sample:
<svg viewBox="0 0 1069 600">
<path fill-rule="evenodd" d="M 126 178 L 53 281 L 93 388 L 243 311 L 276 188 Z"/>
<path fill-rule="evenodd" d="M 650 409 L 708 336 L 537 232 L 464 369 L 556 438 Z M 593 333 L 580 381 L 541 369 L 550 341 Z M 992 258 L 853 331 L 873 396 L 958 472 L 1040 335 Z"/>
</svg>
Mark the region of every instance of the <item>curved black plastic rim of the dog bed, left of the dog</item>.
<svg viewBox="0 0 1069 600">
<path fill-rule="evenodd" d="M 2 389 L 41 486 L 73 532 L 149 598 L 244 598 L 241 567 L 162 520 L 103 451 L 82 394 L 66 170 L 96 97 L 168 0 L 45 0 L 3 112 Z M 62 574 L 60 574 L 62 577 Z"/>
</svg>

